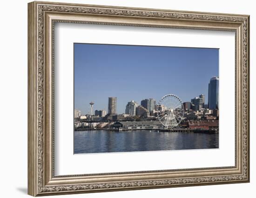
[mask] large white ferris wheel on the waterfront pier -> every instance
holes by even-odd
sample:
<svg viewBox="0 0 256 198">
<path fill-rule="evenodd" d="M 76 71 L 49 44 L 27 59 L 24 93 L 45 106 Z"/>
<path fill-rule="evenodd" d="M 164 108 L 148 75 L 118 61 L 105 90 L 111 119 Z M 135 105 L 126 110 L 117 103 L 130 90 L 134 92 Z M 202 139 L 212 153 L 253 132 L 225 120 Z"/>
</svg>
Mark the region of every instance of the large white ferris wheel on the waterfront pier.
<svg viewBox="0 0 256 198">
<path fill-rule="evenodd" d="M 174 94 L 163 96 L 156 105 L 157 118 L 165 129 L 177 127 L 184 115 L 182 100 Z"/>
</svg>

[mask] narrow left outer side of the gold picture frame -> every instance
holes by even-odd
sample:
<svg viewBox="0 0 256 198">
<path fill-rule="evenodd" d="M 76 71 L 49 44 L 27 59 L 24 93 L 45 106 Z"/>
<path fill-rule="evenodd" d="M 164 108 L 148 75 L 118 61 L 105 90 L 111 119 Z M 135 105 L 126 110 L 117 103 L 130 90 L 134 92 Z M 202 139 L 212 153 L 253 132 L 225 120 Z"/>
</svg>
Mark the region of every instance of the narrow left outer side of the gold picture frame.
<svg viewBox="0 0 256 198">
<path fill-rule="evenodd" d="M 37 195 L 37 64 L 36 64 L 36 4 L 30 2 L 27 4 L 28 16 L 27 16 L 27 64 L 28 64 L 28 98 L 27 98 L 27 176 L 28 176 L 28 188 L 27 194 L 31 196 Z"/>
</svg>

